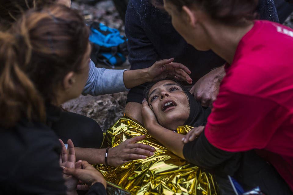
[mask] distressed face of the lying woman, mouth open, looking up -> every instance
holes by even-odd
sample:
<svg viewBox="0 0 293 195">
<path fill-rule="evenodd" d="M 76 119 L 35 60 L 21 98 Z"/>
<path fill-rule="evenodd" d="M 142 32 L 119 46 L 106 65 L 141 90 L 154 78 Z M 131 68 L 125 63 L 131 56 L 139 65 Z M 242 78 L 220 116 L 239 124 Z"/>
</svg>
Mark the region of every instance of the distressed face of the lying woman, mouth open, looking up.
<svg viewBox="0 0 293 195">
<path fill-rule="evenodd" d="M 182 88 L 172 80 L 157 82 L 149 92 L 148 103 L 159 124 L 175 130 L 188 119 L 189 101 Z"/>
</svg>

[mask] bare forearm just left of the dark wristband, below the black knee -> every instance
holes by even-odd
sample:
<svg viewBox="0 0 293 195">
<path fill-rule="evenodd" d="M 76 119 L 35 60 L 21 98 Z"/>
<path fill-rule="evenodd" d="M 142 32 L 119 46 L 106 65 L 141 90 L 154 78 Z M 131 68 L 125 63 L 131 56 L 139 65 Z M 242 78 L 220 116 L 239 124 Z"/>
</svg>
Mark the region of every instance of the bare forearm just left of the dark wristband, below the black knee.
<svg viewBox="0 0 293 195">
<path fill-rule="evenodd" d="M 106 149 L 74 147 L 76 161 L 88 161 L 89 164 L 105 164 Z"/>
</svg>

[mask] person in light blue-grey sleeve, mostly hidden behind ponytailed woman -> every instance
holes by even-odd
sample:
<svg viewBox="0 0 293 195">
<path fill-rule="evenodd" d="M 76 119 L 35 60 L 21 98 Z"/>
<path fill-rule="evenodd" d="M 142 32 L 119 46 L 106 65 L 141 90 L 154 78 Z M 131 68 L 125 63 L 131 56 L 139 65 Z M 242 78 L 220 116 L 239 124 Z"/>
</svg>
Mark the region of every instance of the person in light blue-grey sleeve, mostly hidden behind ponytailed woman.
<svg viewBox="0 0 293 195">
<path fill-rule="evenodd" d="M 53 5 L 55 3 L 63 4 L 67 7 L 70 7 L 71 5 L 70 0 L 6 1 L 0 5 L 0 19 L 2 22 L 4 21 L 1 29 L 4 30 L 9 28 L 9 26 L 11 26 L 11 24 L 20 17 L 21 12 L 27 10 L 29 7 L 41 9 L 46 5 Z M 63 26 L 62 29 L 65 27 L 67 26 Z M 50 36 L 45 36 L 44 38 L 46 37 L 50 38 Z M 83 41 L 87 40 L 85 39 Z M 65 45 L 63 45 L 63 47 L 64 46 Z M 63 49 L 66 50 L 67 48 Z M 75 55 L 76 54 L 72 56 Z M 46 62 L 45 58 L 43 60 Z M 41 59 L 39 61 L 44 63 Z M 156 62 L 152 68 L 130 71 L 96 68 L 94 63 L 90 61 L 86 83 L 82 84 L 84 85 L 82 93 L 96 96 L 125 91 L 143 82 L 153 80 L 154 77 L 160 76 L 161 73 L 164 73 L 165 75 L 177 75 L 178 77 L 191 82 L 190 77 L 182 69 L 177 68 L 183 68 L 188 73 L 189 70 L 183 65 L 173 63 L 172 61 L 173 59 L 165 59 Z M 42 74 L 36 73 L 36 83 L 43 86 L 51 85 L 51 80 L 45 79 L 48 74 L 53 71 L 50 68 L 51 67 L 48 66 L 47 70 L 44 67 L 42 69 Z M 42 82 L 39 82 L 41 80 Z M 79 81 L 78 83 L 80 84 Z M 52 94 L 52 89 L 47 90 L 46 87 L 40 87 L 40 90 L 43 90 L 42 93 L 45 95 Z M 50 100 L 48 102 L 50 102 Z M 50 118 L 47 124 L 56 132 L 58 137 L 63 140 L 65 144 L 67 144 L 68 139 L 71 139 L 74 142 L 76 146 L 75 152 L 78 159 L 87 160 L 92 164 L 105 163 L 104 159 L 106 149 L 99 149 L 103 142 L 102 130 L 94 120 L 76 113 L 63 112 L 52 106 L 46 106 L 46 110 L 49 113 L 58 112 L 58 116 L 55 115 L 54 117 L 50 117 L 50 115 L 47 115 L 47 117 Z M 153 151 L 151 147 L 146 147 L 141 144 L 134 144 L 142 138 L 143 137 L 134 138 L 128 142 L 125 142 L 123 145 L 126 150 L 123 150 L 123 147 L 111 148 L 108 153 L 109 165 L 117 166 L 127 160 L 146 158 L 146 156 L 152 155 Z"/>
</svg>

